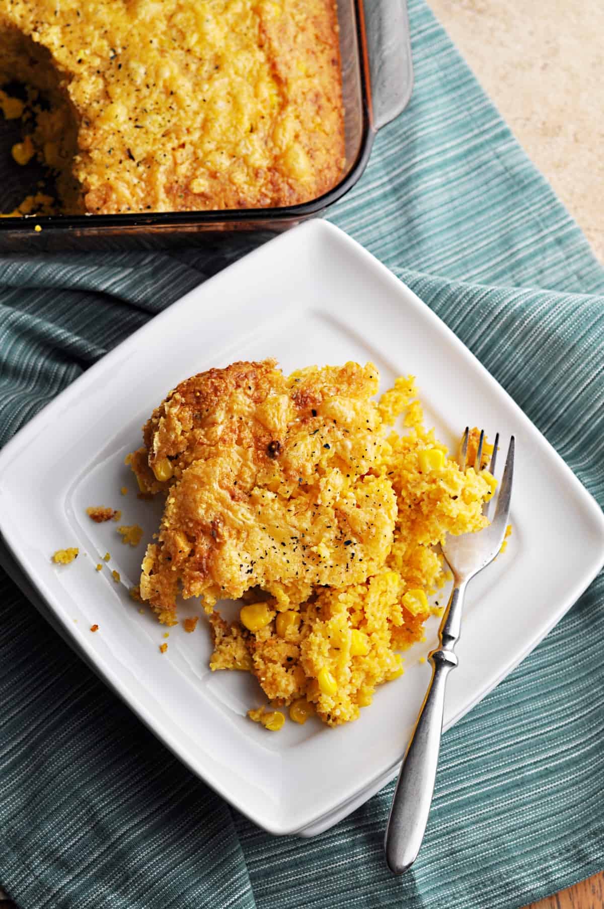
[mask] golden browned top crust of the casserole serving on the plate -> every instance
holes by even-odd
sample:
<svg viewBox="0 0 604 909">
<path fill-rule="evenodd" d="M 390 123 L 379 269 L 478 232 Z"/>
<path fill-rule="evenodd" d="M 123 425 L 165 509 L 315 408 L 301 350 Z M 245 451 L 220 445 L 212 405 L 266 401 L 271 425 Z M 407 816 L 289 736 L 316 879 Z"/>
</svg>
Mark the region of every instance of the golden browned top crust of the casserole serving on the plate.
<svg viewBox="0 0 604 909">
<path fill-rule="evenodd" d="M 171 474 L 148 487 L 167 490 L 141 575 L 158 614 L 173 614 L 179 585 L 208 610 L 253 587 L 287 608 L 383 564 L 396 499 L 386 477 L 368 474 L 387 445 L 376 390 L 371 364 L 286 377 L 266 360 L 209 370 L 168 395 L 131 459 L 143 486 L 149 469 Z"/>
</svg>

